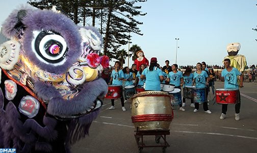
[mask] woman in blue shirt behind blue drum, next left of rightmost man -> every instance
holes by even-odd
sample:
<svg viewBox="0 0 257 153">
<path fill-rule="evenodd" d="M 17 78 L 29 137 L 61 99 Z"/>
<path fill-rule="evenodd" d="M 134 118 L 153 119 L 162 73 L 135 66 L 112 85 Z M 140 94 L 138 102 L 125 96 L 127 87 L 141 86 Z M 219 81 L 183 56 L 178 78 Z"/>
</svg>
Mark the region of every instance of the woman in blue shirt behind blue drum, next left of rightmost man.
<svg viewBox="0 0 257 153">
<path fill-rule="evenodd" d="M 209 84 L 209 76 L 205 70 L 202 70 L 201 63 L 196 64 L 196 71 L 194 72 L 193 82 L 195 83 L 196 88 L 205 88 L 204 90 L 206 90 L 207 85 Z M 204 92 L 204 93 L 205 93 L 205 97 L 207 97 L 206 95 L 207 92 Z M 199 110 L 199 103 L 195 103 L 194 112 L 198 112 L 198 110 Z M 212 112 L 208 108 L 207 100 L 203 101 L 203 110 L 205 113 L 212 114 Z"/>
</svg>

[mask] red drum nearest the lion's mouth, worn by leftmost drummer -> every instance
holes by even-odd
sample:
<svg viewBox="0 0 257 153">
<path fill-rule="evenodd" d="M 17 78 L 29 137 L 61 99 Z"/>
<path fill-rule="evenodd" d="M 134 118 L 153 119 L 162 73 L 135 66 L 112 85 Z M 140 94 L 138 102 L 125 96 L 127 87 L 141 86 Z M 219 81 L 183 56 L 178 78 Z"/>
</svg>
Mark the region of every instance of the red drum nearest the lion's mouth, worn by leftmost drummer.
<svg viewBox="0 0 257 153">
<path fill-rule="evenodd" d="M 109 85 L 108 92 L 105 95 L 106 99 L 116 99 L 122 96 L 122 86 L 119 85 Z"/>
</svg>

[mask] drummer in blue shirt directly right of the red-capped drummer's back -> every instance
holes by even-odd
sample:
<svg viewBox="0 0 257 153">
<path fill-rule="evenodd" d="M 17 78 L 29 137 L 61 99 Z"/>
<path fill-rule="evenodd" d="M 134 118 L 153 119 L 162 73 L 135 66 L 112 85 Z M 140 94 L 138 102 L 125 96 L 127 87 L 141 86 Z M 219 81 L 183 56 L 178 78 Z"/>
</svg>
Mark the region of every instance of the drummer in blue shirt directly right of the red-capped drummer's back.
<svg viewBox="0 0 257 153">
<path fill-rule="evenodd" d="M 167 82 L 169 82 L 169 84 L 171 85 L 174 85 L 175 86 L 174 88 L 181 89 L 181 86 L 183 86 L 184 84 L 184 79 L 183 79 L 182 71 L 177 71 L 177 68 L 178 68 L 177 64 L 173 64 L 171 66 L 172 71 L 169 72 L 167 76 Z M 185 109 L 182 107 L 182 104 L 179 104 L 179 110 L 185 111 Z"/>
</svg>

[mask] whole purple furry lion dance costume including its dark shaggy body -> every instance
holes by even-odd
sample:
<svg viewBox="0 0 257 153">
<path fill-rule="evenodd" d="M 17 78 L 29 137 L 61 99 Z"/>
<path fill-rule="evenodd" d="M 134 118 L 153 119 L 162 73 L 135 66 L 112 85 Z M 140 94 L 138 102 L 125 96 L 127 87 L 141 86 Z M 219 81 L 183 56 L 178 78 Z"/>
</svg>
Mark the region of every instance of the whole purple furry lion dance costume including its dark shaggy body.
<svg viewBox="0 0 257 153">
<path fill-rule="evenodd" d="M 88 134 L 108 85 L 102 37 L 60 12 L 22 6 L 3 24 L 0 148 L 69 152 Z"/>
</svg>

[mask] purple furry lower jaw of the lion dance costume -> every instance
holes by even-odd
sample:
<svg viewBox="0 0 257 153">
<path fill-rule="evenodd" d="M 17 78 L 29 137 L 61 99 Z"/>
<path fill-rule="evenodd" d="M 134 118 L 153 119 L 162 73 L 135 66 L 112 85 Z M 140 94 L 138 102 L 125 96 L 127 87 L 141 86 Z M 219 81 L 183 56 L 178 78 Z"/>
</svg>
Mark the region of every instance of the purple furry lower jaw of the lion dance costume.
<svg viewBox="0 0 257 153">
<path fill-rule="evenodd" d="M 108 85 L 101 78 L 88 82 L 80 88 L 81 91 L 73 98 L 64 99 L 53 86 L 35 82 L 36 94 L 44 101 L 48 101 L 47 113 L 61 118 L 73 118 L 92 112 L 101 103 L 99 98 L 104 97 L 108 91 Z"/>
</svg>

